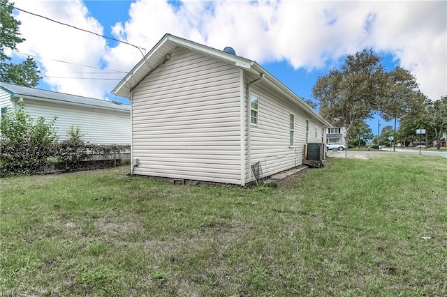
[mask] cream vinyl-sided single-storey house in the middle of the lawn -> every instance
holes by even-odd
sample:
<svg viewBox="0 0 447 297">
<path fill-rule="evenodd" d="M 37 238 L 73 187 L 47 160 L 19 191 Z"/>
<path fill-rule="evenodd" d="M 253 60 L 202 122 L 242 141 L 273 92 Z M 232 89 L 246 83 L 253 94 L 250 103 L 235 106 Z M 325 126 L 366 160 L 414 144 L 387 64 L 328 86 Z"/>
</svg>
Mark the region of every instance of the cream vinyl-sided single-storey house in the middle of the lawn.
<svg viewBox="0 0 447 297">
<path fill-rule="evenodd" d="M 131 100 L 132 173 L 246 185 L 302 165 L 330 126 L 256 61 L 166 34 L 112 93 Z"/>
</svg>

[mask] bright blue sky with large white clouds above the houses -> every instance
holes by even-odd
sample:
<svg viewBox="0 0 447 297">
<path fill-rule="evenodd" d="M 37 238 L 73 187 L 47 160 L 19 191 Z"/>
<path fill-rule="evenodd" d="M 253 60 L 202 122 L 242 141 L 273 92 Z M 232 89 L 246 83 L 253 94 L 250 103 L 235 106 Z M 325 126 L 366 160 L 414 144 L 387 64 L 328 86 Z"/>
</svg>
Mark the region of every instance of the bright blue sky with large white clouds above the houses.
<svg viewBox="0 0 447 297">
<path fill-rule="evenodd" d="M 395 66 L 411 70 L 430 98 L 447 94 L 446 1 L 14 2 L 17 8 L 145 50 L 164 33 L 217 49 L 231 46 L 306 99 L 312 99 L 318 76 L 339 67 L 346 54 L 365 47 L 374 48 L 388 70 Z M 27 13 L 16 16 L 27 39 L 19 52 L 38 56 L 44 76 L 39 88 L 129 103 L 110 91 L 145 50 Z M 367 123 L 375 135 L 377 118 Z"/>
</svg>

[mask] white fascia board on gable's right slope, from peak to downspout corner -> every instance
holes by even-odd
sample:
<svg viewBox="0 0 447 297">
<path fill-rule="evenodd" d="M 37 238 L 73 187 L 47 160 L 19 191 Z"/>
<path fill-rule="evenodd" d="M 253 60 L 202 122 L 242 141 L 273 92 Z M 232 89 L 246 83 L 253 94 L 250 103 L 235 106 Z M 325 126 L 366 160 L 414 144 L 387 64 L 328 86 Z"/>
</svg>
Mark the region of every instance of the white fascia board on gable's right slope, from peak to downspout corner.
<svg viewBox="0 0 447 297">
<path fill-rule="evenodd" d="M 235 56 L 233 54 L 228 54 L 226 52 L 222 52 L 221 50 L 216 50 L 212 47 L 208 47 L 206 45 L 200 45 L 199 43 L 194 43 L 192 41 L 178 38 L 177 36 L 168 36 L 168 39 L 173 41 L 173 43 L 177 43 L 177 45 L 180 45 L 182 47 L 186 47 L 189 50 L 193 50 L 195 52 L 202 52 L 203 54 L 206 54 L 207 56 L 214 56 L 219 59 L 223 59 L 225 61 L 230 61 L 235 64 L 235 66 L 242 67 L 245 69 L 250 69 L 251 66 L 254 64 L 253 61 L 249 59 L 242 58 L 240 56 Z"/>
</svg>

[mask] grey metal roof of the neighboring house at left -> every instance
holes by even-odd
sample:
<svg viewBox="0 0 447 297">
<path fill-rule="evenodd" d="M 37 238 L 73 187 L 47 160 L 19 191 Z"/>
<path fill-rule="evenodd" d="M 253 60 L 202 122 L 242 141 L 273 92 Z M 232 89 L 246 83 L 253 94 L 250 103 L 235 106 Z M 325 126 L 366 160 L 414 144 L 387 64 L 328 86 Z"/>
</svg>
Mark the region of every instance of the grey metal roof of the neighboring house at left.
<svg viewBox="0 0 447 297">
<path fill-rule="evenodd" d="M 129 105 L 116 104 L 108 100 L 76 96 L 54 91 L 46 91 L 42 89 L 30 88 L 28 86 L 17 86 L 17 84 L 7 84 L 6 82 L 0 82 L 0 89 L 10 93 L 11 98 L 24 97 L 37 100 L 54 100 L 55 102 L 63 102 L 74 105 L 87 105 L 91 107 L 117 109 L 129 112 L 131 110 L 131 107 Z"/>
</svg>

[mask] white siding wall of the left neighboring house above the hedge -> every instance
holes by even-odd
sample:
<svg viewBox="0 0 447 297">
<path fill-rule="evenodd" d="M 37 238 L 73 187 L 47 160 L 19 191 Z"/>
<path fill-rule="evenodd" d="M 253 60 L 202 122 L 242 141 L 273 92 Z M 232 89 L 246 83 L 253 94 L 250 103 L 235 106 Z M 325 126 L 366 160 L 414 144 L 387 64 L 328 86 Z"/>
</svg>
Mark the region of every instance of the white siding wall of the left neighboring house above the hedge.
<svg viewBox="0 0 447 297">
<path fill-rule="evenodd" d="M 57 116 L 56 127 L 59 141 L 68 139 L 67 132 L 73 125 L 81 130 L 82 139 L 91 144 L 130 144 L 130 112 L 112 111 L 95 107 L 54 104 L 43 100 L 24 98 L 25 111 L 32 117 L 43 116 L 51 121 Z"/>
</svg>

